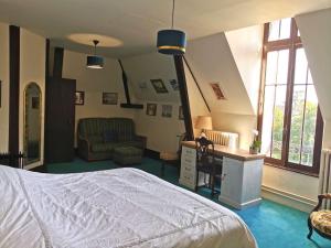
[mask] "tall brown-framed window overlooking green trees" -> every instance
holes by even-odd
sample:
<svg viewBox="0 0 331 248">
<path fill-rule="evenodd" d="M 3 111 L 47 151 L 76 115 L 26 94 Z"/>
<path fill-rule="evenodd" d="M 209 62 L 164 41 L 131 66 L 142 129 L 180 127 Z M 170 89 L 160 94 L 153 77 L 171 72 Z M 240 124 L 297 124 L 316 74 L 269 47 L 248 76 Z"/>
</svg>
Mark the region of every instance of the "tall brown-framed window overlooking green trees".
<svg viewBox="0 0 331 248">
<path fill-rule="evenodd" d="M 293 19 L 265 24 L 258 126 L 266 163 L 319 171 L 323 121 Z"/>
</svg>

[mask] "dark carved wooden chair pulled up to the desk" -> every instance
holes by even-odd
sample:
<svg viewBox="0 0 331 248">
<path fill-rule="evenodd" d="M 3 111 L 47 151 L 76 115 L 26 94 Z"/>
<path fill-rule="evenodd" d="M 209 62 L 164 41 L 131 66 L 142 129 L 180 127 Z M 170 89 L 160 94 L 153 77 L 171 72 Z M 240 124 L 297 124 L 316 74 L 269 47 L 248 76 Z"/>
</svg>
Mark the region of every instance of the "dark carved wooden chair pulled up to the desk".
<svg viewBox="0 0 331 248">
<path fill-rule="evenodd" d="M 195 139 L 196 149 L 196 182 L 195 192 L 199 188 L 199 172 L 203 172 L 205 175 L 210 176 L 209 182 L 204 186 L 212 190 L 211 196 L 214 197 L 215 192 L 215 180 L 222 179 L 223 161 L 222 159 L 216 159 L 214 153 L 214 142 L 207 140 L 206 138 Z M 218 192 L 220 193 L 220 192 Z"/>
</svg>

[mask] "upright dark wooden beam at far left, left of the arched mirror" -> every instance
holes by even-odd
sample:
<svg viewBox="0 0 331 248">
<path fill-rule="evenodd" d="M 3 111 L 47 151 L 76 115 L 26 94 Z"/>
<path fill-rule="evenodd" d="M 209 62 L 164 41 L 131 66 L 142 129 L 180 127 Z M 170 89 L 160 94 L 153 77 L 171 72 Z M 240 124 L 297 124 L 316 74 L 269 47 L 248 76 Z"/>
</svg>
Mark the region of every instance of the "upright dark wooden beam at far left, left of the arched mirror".
<svg viewBox="0 0 331 248">
<path fill-rule="evenodd" d="M 19 154 L 20 108 L 20 28 L 9 26 L 9 144 L 11 154 Z"/>
</svg>

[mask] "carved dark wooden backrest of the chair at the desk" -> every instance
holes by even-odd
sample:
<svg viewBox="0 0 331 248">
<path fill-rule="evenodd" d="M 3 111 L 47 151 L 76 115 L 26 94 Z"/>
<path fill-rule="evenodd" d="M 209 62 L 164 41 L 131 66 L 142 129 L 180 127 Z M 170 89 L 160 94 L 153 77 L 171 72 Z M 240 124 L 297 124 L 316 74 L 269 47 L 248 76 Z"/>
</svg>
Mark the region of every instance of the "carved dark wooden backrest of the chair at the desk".
<svg viewBox="0 0 331 248">
<path fill-rule="evenodd" d="M 195 139 L 196 161 L 201 164 L 213 164 L 215 161 L 214 142 L 205 137 Z"/>
</svg>

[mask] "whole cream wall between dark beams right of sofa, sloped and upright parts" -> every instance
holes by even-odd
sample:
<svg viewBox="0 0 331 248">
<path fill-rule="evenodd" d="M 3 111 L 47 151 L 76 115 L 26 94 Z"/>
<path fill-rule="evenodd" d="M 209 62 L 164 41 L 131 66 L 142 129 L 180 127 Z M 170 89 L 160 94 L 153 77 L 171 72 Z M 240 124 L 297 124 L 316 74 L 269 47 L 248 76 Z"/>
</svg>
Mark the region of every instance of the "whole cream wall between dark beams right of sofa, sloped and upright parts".
<svg viewBox="0 0 331 248">
<path fill-rule="evenodd" d="M 122 60 L 124 68 L 128 75 L 129 85 L 136 96 L 136 103 L 145 105 L 143 110 L 136 110 L 136 127 L 140 134 L 147 137 L 147 148 L 154 151 L 175 152 L 178 150 L 178 134 L 184 132 L 184 121 L 179 120 L 178 111 L 180 96 L 173 90 L 169 80 L 177 79 L 174 61 L 172 56 L 149 53 Z M 157 94 L 150 79 L 162 79 L 168 93 Z M 140 83 L 146 88 L 140 88 Z M 146 104 L 157 104 L 157 116 L 146 115 Z M 161 116 L 162 105 L 172 106 L 172 117 Z"/>
</svg>

